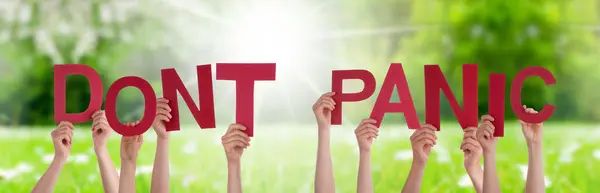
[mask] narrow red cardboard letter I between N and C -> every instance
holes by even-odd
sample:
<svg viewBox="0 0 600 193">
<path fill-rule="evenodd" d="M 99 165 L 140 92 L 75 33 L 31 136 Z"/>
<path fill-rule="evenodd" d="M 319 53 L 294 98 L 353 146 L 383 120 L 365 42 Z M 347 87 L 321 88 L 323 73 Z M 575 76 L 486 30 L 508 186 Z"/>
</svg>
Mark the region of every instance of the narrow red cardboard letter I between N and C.
<svg viewBox="0 0 600 193">
<path fill-rule="evenodd" d="M 504 137 L 504 95 L 506 89 L 506 75 L 490 74 L 490 88 L 488 96 L 488 111 L 494 117 L 494 137 Z"/>
</svg>

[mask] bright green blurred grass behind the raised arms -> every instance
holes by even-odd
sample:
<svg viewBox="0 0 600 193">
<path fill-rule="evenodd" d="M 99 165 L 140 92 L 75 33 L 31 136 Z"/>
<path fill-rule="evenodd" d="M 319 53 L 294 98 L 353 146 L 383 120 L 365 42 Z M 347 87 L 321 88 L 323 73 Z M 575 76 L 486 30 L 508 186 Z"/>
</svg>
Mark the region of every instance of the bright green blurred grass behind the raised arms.
<svg viewBox="0 0 600 193">
<path fill-rule="evenodd" d="M 256 137 L 242 157 L 245 192 L 312 192 L 317 145 L 314 126 L 256 126 Z M 353 127 L 332 128 L 332 153 L 337 192 L 355 192 L 358 164 Z M 189 126 L 173 133 L 170 146 L 172 192 L 226 192 L 227 165 L 220 136 L 224 127 L 200 130 Z M 53 153 L 48 129 L 0 129 L 0 192 L 28 192 L 48 166 Z M 386 125 L 372 150 L 375 192 L 400 192 L 411 158 L 404 126 Z M 498 145 L 498 172 L 503 192 L 522 192 L 525 180 L 520 165 L 527 165 L 527 147 L 520 128 L 506 127 Z M 425 170 L 422 192 L 474 192 L 461 186 L 465 175 L 459 149 L 461 131 L 444 124 L 438 146 Z M 138 192 L 149 192 L 154 161 L 155 134 L 146 134 L 138 158 Z M 600 190 L 600 127 L 583 124 L 546 124 L 544 133 L 545 175 L 551 182 L 547 192 L 593 192 Z M 109 143 L 112 159 L 119 167 L 119 141 Z M 78 128 L 72 161 L 63 169 L 55 192 L 103 192 L 91 134 Z M 50 157 L 48 157 L 50 156 Z M 569 156 L 572 159 L 569 161 Z M 46 157 L 46 158 L 45 158 Z M 86 161 L 85 158 L 88 158 Z M 79 161 L 77 161 L 79 160 Z M 15 173 L 15 171 L 18 171 Z M 19 172 L 20 171 L 20 172 Z M 15 174 L 11 176 L 12 174 Z M 468 181 L 467 181 L 468 182 Z"/>
</svg>

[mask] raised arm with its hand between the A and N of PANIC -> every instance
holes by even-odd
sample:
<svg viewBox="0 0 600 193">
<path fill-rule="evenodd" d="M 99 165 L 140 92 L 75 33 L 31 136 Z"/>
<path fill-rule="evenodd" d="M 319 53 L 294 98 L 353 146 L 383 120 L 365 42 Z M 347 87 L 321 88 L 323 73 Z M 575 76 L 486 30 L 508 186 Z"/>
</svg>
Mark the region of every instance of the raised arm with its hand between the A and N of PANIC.
<svg viewBox="0 0 600 193">
<path fill-rule="evenodd" d="M 410 143 L 413 150 L 413 163 L 408 173 L 402 193 L 418 193 L 421 192 L 421 184 L 423 182 L 423 173 L 425 165 L 429 158 L 431 148 L 437 143 L 435 131 L 437 129 L 432 125 L 423 125 L 410 136 Z"/>
</svg>

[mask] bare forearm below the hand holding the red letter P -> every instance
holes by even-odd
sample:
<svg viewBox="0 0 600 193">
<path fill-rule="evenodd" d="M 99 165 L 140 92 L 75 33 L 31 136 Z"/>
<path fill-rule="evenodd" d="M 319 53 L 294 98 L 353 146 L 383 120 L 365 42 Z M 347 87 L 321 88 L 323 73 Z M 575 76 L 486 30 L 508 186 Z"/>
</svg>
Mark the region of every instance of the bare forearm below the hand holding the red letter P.
<svg viewBox="0 0 600 193">
<path fill-rule="evenodd" d="M 315 193 L 335 192 L 335 180 L 331 161 L 329 128 L 319 128 L 317 145 L 317 166 L 315 172 Z"/>
</svg>

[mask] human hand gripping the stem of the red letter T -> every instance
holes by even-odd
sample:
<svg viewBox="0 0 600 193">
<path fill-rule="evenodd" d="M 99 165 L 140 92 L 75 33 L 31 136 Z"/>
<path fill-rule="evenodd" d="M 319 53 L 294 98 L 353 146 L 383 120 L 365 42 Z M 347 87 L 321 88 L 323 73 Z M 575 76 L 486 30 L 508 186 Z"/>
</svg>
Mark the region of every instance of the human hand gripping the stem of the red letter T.
<svg viewBox="0 0 600 193">
<path fill-rule="evenodd" d="M 240 124 L 231 124 L 227 132 L 221 137 L 221 144 L 225 149 L 228 162 L 239 163 L 244 149 L 250 146 L 250 137 L 244 133 L 246 127 Z"/>
</svg>

